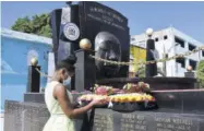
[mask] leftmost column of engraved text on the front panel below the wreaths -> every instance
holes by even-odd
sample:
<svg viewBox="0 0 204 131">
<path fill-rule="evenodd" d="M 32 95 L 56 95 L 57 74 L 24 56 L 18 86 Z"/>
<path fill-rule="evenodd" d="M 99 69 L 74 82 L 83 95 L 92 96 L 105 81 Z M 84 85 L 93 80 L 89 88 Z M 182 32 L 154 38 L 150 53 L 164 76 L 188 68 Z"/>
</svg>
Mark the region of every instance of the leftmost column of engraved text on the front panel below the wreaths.
<svg viewBox="0 0 204 131">
<path fill-rule="evenodd" d="M 100 115 L 94 116 L 94 131 L 113 131 L 113 119 L 112 115 Z"/>
</svg>

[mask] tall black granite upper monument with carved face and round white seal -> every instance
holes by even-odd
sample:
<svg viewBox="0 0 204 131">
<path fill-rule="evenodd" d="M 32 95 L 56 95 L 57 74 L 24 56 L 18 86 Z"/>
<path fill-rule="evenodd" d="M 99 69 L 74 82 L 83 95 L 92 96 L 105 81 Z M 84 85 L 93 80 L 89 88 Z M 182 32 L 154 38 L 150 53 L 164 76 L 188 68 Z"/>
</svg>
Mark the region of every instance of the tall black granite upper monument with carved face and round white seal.
<svg viewBox="0 0 204 131">
<path fill-rule="evenodd" d="M 79 40 L 82 38 L 91 40 L 93 44 L 92 50 L 96 51 L 96 57 L 112 61 L 129 61 L 130 34 L 128 20 L 121 13 L 108 7 L 97 2 L 70 4 L 51 12 L 50 25 L 53 34 L 52 41 L 56 63 L 69 55 L 81 53 L 76 50 L 80 49 Z M 87 84 L 79 85 L 79 81 L 82 80 L 89 83 L 88 86 L 93 86 L 95 81 L 89 80 L 128 76 L 128 67 L 95 61 L 95 64 L 88 68 L 86 61 L 93 58 L 83 58 L 84 60 L 76 62 L 77 71 L 75 79 L 72 78 L 72 90 L 82 91 L 81 88 L 87 88 Z M 85 67 L 82 67 L 82 64 Z M 82 68 L 85 72 L 81 70 Z M 96 70 L 96 74 L 88 79 L 86 72 L 93 72 L 92 69 Z M 74 83 L 77 86 L 74 86 Z"/>
</svg>

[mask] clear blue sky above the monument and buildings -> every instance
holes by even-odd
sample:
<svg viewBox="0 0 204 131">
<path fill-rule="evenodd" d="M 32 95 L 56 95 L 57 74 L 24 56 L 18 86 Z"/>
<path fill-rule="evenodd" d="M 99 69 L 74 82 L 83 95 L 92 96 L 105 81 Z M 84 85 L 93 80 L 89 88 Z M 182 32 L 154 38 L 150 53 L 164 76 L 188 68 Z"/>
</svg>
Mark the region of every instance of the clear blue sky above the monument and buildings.
<svg viewBox="0 0 204 131">
<path fill-rule="evenodd" d="M 154 31 L 172 25 L 179 31 L 204 43 L 204 2 L 117 2 L 101 3 L 120 11 L 129 19 L 130 34 L 144 33 L 147 27 Z M 48 13 L 65 5 L 60 2 L 2 2 L 1 24 L 10 28 L 17 17 Z"/>
</svg>

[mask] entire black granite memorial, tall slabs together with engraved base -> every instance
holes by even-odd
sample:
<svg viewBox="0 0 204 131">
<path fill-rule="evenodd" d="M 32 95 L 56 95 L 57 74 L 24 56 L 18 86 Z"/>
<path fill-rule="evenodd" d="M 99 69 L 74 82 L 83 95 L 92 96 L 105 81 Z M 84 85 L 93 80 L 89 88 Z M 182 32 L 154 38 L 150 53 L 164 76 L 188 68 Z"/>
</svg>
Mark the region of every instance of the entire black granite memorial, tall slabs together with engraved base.
<svg viewBox="0 0 204 131">
<path fill-rule="evenodd" d="M 128 67 L 112 66 L 91 57 L 115 62 L 129 61 L 128 20 L 119 12 L 97 2 L 80 2 L 55 10 L 51 13 L 50 25 L 56 62 L 69 55 L 75 53 L 77 57 L 75 79 L 72 79 L 75 81 L 72 84 L 77 86 L 75 90 L 88 90 L 95 83 L 121 87 L 124 83 L 141 81 L 127 79 Z M 87 49 L 80 49 L 81 39 L 88 45 L 92 43 L 92 46 L 82 46 L 82 43 L 81 46 Z M 155 75 L 154 72 L 149 76 L 153 75 Z M 189 78 L 189 80 L 193 79 Z M 177 78 L 175 80 L 159 78 L 159 81 L 165 84 L 157 83 L 157 90 L 164 91 L 152 92 L 159 109 L 124 114 L 95 108 L 75 119 L 76 131 L 203 131 L 204 91 L 183 90 L 185 85 L 193 88 L 191 87 L 193 81 L 180 82 L 182 90 L 178 86 Z M 44 94 L 27 93 L 24 98 L 23 103 L 5 103 L 4 131 L 40 131 L 43 129 L 49 118 L 44 104 Z"/>
</svg>

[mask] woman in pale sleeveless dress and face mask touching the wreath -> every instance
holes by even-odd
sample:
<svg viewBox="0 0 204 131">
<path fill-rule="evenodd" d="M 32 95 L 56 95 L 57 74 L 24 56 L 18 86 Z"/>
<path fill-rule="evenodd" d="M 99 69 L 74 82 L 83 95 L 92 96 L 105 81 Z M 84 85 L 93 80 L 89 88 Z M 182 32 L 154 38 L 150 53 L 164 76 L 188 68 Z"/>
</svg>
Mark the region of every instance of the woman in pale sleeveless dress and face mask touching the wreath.
<svg viewBox="0 0 204 131">
<path fill-rule="evenodd" d="M 74 74 L 75 59 L 64 59 L 57 67 L 52 81 L 45 88 L 45 102 L 50 112 L 50 118 L 44 127 L 44 131 L 74 131 L 73 118 L 88 111 L 95 105 L 103 105 L 104 99 L 91 102 L 87 106 L 72 108 L 73 98 L 64 84 Z"/>
</svg>

